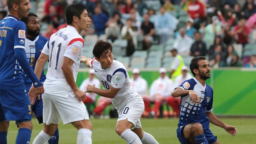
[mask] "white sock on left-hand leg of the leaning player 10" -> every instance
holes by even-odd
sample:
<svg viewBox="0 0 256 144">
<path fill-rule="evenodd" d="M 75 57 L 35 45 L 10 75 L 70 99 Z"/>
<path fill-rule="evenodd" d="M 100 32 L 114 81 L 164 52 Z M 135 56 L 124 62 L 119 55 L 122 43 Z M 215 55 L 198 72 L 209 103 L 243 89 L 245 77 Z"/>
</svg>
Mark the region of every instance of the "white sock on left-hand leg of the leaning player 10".
<svg viewBox="0 0 256 144">
<path fill-rule="evenodd" d="M 131 131 L 131 129 L 126 129 L 122 134 L 120 135 L 122 139 L 126 140 L 128 144 L 142 144 L 139 137 Z"/>
</svg>

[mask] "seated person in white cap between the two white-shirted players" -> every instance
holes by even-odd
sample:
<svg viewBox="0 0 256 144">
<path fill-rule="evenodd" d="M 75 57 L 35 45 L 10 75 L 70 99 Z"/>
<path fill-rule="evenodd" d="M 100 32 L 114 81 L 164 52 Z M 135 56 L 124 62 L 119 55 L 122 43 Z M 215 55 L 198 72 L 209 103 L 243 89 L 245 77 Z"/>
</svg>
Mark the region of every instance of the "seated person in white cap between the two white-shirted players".
<svg viewBox="0 0 256 144">
<path fill-rule="evenodd" d="M 89 70 L 89 78 L 83 80 L 79 89 L 85 92 L 87 85 L 95 85 L 96 88 L 100 89 L 100 81 L 95 78 L 95 71 L 93 69 Z M 83 101 L 83 103 L 95 102 L 97 94 L 94 92 L 86 92 L 85 94 L 86 99 Z"/>
</svg>

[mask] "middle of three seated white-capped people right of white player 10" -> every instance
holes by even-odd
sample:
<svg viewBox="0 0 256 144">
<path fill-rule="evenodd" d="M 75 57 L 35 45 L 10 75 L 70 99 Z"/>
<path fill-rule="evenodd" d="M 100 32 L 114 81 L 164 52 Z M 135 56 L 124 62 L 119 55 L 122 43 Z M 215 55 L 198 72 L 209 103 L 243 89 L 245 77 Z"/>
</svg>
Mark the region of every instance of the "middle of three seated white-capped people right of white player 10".
<svg viewBox="0 0 256 144">
<path fill-rule="evenodd" d="M 166 76 L 166 72 L 165 68 L 159 69 L 160 78 L 153 81 L 149 91 L 150 96 L 143 96 L 145 111 L 152 117 L 156 116 L 160 105 L 171 96 L 174 89 L 173 81 Z M 150 109 L 151 102 L 154 102 L 152 110 Z"/>
</svg>

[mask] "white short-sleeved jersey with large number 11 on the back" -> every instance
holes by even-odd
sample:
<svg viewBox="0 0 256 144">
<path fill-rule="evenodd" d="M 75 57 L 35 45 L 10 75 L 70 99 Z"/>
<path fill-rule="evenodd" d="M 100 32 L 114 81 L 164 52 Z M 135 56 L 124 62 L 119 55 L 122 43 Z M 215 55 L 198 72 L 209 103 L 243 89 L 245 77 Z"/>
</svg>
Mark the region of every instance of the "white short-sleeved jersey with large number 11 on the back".
<svg viewBox="0 0 256 144">
<path fill-rule="evenodd" d="M 67 28 L 52 34 L 42 51 L 43 54 L 49 55 L 49 65 L 44 83 L 45 93 L 66 98 L 69 95 L 75 97 L 61 67 L 64 57 L 72 59 L 74 61 L 72 72 L 76 80 L 82 56 L 83 42 L 78 31 L 72 26 L 67 26 Z"/>
</svg>

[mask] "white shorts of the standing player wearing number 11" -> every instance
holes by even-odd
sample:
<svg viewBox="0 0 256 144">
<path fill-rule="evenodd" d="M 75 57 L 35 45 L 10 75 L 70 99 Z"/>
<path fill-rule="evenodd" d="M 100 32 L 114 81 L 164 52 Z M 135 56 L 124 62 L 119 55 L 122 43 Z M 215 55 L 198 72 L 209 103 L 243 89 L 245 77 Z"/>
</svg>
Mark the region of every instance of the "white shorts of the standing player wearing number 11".
<svg viewBox="0 0 256 144">
<path fill-rule="evenodd" d="M 63 124 L 76 122 L 79 120 L 89 120 L 88 111 L 83 102 L 76 97 L 63 98 L 51 94 L 42 94 L 43 99 L 43 123 L 59 124 L 60 119 Z"/>
</svg>

